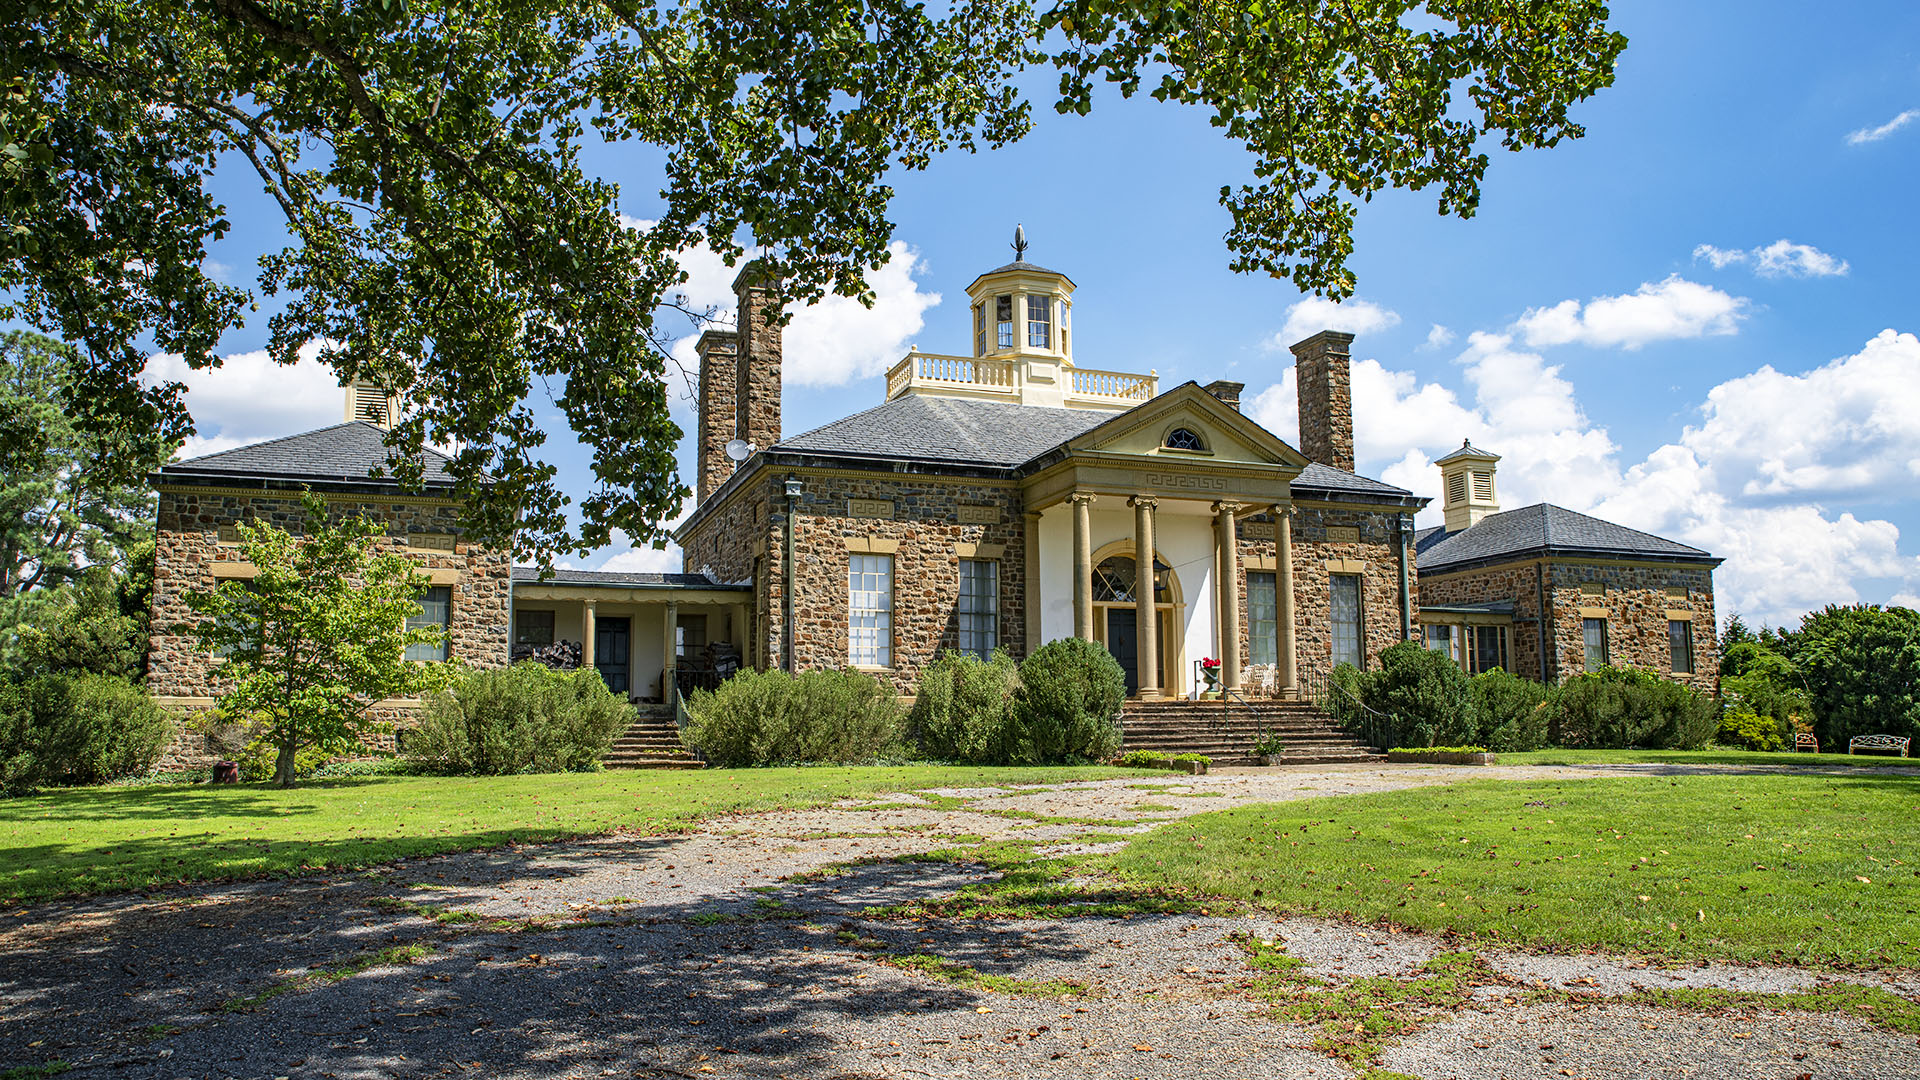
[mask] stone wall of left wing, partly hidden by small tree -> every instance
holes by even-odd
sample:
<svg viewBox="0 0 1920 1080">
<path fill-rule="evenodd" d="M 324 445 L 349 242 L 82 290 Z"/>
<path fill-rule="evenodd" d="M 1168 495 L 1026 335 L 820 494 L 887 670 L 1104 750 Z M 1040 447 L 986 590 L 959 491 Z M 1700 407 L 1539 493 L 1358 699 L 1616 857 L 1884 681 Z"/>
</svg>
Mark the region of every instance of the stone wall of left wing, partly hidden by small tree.
<svg viewBox="0 0 1920 1080">
<path fill-rule="evenodd" d="M 453 571 L 453 611 L 447 626 L 451 655 L 478 667 L 507 663 L 507 605 L 513 590 L 513 559 L 507 552 L 468 544 L 459 523 L 459 507 L 442 500 L 334 498 L 334 515 L 367 513 L 386 525 L 384 548 L 405 552 L 426 571 Z M 196 617 L 186 594 L 211 590 L 217 565 L 242 565 L 240 546 L 221 542 L 221 527 L 257 519 L 300 534 L 305 509 L 296 494 L 232 492 L 221 488 L 163 488 L 159 492 L 154 538 L 154 634 L 148 646 L 148 690 L 188 713 L 204 711 L 219 694 L 219 661 L 200 648 L 192 634 L 175 634 L 179 623 Z M 407 546 L 415 536 L 426 544 Z M 451 538 L 451 550 L 434 540 Z M 399 715 L 399 713 L 396 713 Z"/>
</svg>

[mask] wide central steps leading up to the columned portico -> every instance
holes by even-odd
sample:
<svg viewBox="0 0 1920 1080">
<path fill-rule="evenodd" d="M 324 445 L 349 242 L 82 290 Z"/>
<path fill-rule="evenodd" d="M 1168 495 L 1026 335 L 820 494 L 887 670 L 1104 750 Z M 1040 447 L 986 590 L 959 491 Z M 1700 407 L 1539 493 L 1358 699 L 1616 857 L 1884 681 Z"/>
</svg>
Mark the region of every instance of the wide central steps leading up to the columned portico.
<svg viewBox="0 0 1920 1080">
<path fill-rule="evenodd" d="M 1121 749 L 1204 753 L 1213 765 L 1254 765 L 1254 740 L 1275 732 L 1283 740 L 1277 765 L 1340 765 L 1386 761 L 1346 734 L 1311 701 L 1275 698 L 1223 701 L 1127 701 L 1121 709 Z"/>
</svg>

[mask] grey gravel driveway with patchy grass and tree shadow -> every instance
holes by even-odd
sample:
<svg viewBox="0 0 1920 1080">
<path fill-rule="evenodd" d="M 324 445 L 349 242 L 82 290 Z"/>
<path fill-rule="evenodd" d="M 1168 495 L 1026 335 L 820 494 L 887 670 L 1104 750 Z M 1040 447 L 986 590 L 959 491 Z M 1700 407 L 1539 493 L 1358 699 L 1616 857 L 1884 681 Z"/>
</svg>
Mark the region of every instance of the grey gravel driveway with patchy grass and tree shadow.
<svg viewBox="0 0 1920 1080">
<path fill-rule="evenodd" d="M 1448 951 L 1442 942 L 1311 919 L 870 919 L 874 907 L 945 896 L 989 871 L 879 863 L 785 878 L 981 838 L 1104 849 L 1116 832 L 1254 801 L 1655 769 L 1154 773 L 887 796 L 724 819 L 684 836 L 445 855 L 363 874 L 42 903 L 0 915 L 0 1074 L 65 1061 L 75 1076 L 167 1080 L 1354 1076 L 1313 1047 L 1317 1026 L 1275 1020 L 1250 999 L 1246 955 L 1229 936 L 1281 942 L 1332 982 L 1411 976 Z M 445 922 L 438 911 L 486 920 Z M 413 963 L 365 967 L 380 949 L 411 949 Z M 966 965 L 985 984 L 887 963 L 912 953 Z M 1778 992 L 1818 986 L 1814 972 L 1480 955 L 1500 984 L 1386 1045 L 1386 1068 L 1427 1080 L 1920 1076 L 1914 1036 L 1839 1015 L 1526 995 Z M 1010 994 L 995 978 L 1031 986 Z M 1920 995 L 1907 974 L 1855 980 Z M 1079 986 L 1056 994 L 1054 982 Z"/>
</svg>

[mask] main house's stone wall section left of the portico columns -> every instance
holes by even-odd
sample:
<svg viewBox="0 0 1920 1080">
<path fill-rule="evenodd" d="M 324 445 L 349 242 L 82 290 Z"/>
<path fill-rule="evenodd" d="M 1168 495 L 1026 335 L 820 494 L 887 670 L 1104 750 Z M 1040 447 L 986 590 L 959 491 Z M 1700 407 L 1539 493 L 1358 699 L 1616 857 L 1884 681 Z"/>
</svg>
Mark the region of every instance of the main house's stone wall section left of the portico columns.
<svg viewBox="0 0 1920 1080">
<path fill-rule="evenodd" d="M 803 473 L 801 479 L 804 494 L 795 517 L 795 661 L 801 669 L 847 667 L 849 542 L 893 555 L 893 665 L 877 675 L 897 692 L 914 694 L 933 657 L 960 644 L 962 544 L 998 546 L 1000 646 L 1014 657 L 1025 655 L 1025 517 L 1016 486 L 939 477 Z M 768 638 L 776 657 L 781 542 L 776 523 L 766 561 Z"/>
</svg>

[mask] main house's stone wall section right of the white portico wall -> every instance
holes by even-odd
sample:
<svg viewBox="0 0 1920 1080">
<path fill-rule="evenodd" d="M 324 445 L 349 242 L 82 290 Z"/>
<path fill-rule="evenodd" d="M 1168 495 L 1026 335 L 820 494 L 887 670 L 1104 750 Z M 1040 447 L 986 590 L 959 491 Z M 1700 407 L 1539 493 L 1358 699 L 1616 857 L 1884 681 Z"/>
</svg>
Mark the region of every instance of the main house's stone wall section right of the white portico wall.
<svg viewBox="0 0 1920 1080">
<path fill-rule="evenodd" d="M 1373 667 L 1382 650 L 1400 642 L 1400 561 L 1394 552 L 1394 519 L 1400 509 L 1367 511 L 1300 505 L 1294 509 L 1294 657 L 1300 676 L 1332 671 L 1332 575 L 1329 561 L 1361 563 L 1359 617 L 1363 650 Z M 1240 519 L 1240 671 L 1252 669 L 1248 571 L 1275 559 L 1273 523 Z M 1411 577 L 1413 567 L 1407 567 Z M 1415 611 L 1417 617 L 1417 611 Z M 1246 680 L 1252 682 L 1252 680 Z"/>
</svg>

